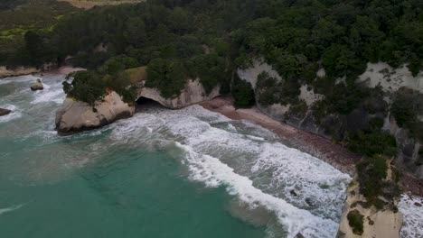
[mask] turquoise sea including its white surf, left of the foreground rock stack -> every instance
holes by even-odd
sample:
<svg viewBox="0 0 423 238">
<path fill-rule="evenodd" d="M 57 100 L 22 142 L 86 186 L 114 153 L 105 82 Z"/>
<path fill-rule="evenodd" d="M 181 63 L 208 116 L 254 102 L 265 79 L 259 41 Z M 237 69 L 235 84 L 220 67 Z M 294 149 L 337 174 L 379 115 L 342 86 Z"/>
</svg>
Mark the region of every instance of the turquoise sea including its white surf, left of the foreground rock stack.
<svg viewBox="0 0 423 238">
<path fill-rule="evenodd" d="M 348 175 L 198 105 L 60 137 L 63 78 L 0 80 L 0 237 L 334 237 Z"/>
</svg>

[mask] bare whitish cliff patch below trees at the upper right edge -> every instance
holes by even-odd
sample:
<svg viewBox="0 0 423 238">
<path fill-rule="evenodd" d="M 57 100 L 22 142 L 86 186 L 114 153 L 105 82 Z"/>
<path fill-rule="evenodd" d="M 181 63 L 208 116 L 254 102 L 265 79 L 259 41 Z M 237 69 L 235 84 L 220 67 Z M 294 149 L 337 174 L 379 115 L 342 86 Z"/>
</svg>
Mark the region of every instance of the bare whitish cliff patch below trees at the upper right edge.
<svg viewBox="0 0 423 238">
<path fill-rule="evenodd" d="M 387 63 L 368 63 L 359 81 L 367 81 L 369 87 L 381 85 L 385 92 L 395 92 L 400 87 L 408 87 L 423 93 L 423 72 L 413 77 L 406 66 L 392 69 Z"/>
</svg>

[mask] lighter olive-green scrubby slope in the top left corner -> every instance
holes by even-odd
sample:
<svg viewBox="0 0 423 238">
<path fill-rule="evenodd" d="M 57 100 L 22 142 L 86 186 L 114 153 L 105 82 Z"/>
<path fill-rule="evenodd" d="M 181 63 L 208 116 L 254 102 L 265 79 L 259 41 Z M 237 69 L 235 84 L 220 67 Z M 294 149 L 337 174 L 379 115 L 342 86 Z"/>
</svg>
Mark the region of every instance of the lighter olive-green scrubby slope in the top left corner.
<svg viewBox="0 0 423 238">
<path fill-rule="evenodd" d="M 0 2 L 0 65 L 41 66 L 42 62 L 55 61 L 54 47 L 45 48 L 45 45 L 54 43 L 55 24 L 64 15 L 79 10 L 56 0 Z"/>
</svg>

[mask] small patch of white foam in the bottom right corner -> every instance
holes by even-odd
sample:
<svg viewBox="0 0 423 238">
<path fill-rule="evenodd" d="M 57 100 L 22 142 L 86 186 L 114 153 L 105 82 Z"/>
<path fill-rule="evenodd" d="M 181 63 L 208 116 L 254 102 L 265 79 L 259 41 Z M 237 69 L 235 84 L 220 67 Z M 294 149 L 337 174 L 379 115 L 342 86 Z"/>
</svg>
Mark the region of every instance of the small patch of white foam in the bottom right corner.
<svg viewBox="0 0 423 238">
<path fill-rule="evenodd" d="M 399 208 L 404 215 L 404 222 L 400 232 L 401 238 L 423 237 L 423 197 L 402 195 Z"/>
</svg>

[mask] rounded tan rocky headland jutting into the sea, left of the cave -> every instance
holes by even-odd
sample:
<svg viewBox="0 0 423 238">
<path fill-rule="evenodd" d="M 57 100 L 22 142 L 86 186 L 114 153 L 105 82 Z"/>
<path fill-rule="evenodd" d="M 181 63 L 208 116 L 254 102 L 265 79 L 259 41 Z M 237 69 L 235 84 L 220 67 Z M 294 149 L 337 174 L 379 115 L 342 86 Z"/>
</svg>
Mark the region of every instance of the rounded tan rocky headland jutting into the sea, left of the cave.
<svg viewBox="0 0 423 238">
<path fill-rule="evenodd" d="M 56 114 L 56 130 L 60 134 L 79 133 L 111 124 L 134 113 L 135 106 L 125 103 L 114 91 L 93 106 L 68 97 Z"/>
</svg>

